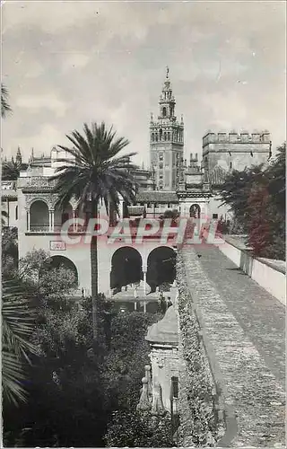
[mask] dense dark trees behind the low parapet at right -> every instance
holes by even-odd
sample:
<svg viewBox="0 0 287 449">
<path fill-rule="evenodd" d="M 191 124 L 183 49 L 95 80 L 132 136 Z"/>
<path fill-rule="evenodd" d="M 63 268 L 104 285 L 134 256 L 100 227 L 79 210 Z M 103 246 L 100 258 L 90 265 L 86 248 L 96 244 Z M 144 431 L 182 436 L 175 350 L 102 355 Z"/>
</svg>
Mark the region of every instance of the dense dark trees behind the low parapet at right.
<svg viewBox="0 0 287 449">
<path fill-rule="evenodd" d="M 258 165 L 233 171 L 222 185 L 223 204 L 230 206 L 235 225 L 221 222 L 220 230 L 248 233 L 256 256 L 285 258 L 285 157 L 283 144 L 265 169 Z"/>
</svg>

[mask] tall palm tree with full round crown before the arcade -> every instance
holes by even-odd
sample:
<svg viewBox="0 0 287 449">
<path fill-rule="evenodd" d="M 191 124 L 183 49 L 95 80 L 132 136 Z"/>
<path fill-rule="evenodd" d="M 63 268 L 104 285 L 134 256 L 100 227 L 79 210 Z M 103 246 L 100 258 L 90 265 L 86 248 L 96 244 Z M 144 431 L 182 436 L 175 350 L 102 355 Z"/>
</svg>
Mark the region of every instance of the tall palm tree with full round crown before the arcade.
<svg viewBox="0 0 287 449">
<path fill-rule="evenodd" d="M 130 163 L 135 155 L 119 153 L 129 144 L 123 137 L 116 137 L 112 128 L 107 129 L 104 122 L 92 123 L 91 128 L 85 123 L 83 135 L 74 130 L 66 136 L 73 148 L 58 145 L 74 159 L 74 164 L 66 164 L 57 169 L 53 177 L 57 180 L 55 192 L 60 205 L 76 198 L 79 207 L 88 217 L 98 216 L 99 204 L 104 203 L 107 213 L 109 206 L 118 214 L 119 196 L 128 204 L 135 201 L 135 181 L 131 174 L 136 166 Z M 92 322 L 94 339 L 97 337 L 97 296 L 98 296 L 98 257 L 97 238 L 91 238 L 91 296 Z"/>
</svg>

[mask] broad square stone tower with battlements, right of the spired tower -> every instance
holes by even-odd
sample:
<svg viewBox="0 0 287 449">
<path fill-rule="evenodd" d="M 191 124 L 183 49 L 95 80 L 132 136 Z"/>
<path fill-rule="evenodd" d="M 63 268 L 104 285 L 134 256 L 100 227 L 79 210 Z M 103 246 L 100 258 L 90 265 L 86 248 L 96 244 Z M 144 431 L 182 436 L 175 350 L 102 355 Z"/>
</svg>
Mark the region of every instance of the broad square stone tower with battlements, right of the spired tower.
<svg viewBox="0 0 287 449">
<path fill-rule="evenodd" d="M 203 168 L 211 173 L 218 167 L 225 172 L 242 171 L 245 167 L 267 163 L 271 157 L 271 137 L 268 131 L 208 132 L 203 137 Z"/>
</svg>

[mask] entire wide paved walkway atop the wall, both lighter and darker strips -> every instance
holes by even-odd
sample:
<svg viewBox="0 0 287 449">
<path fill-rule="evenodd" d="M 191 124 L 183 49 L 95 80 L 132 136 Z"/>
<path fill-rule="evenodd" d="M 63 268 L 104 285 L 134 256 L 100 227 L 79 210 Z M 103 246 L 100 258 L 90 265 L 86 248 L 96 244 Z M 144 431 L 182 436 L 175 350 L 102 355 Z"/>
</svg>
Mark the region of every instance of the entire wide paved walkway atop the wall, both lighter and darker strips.
<svg viewBox="0 0 287 449">
<path fill-rule="evenodd" d="M 283 304 L 215 247 L 189 247 L 181 257 L 224 403 L 236 418 L 231 447 L 283 447 Z"/>
</svg>

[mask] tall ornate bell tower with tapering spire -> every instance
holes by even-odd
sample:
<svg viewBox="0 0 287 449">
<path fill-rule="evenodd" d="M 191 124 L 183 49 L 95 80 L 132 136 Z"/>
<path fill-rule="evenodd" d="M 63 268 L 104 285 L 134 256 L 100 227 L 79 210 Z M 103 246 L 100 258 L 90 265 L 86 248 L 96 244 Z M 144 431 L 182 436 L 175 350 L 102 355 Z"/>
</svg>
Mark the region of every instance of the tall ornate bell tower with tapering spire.
<svg viewBox="0 0 287 449">
<path fill-rule="evenodd" d="M 183 167 L 184 123 L 175 115 L 176 101 L 172 94 L 169 67 L 159 101 L 160 114 L 151 116 L 150 154 L 155 185 L 161 190 L 177 190 Z"/>
</svg>

